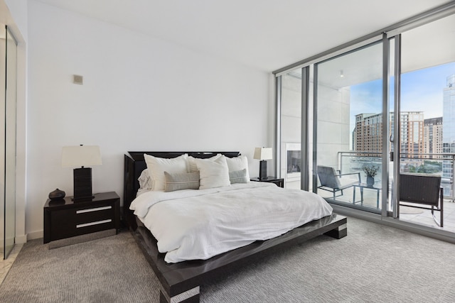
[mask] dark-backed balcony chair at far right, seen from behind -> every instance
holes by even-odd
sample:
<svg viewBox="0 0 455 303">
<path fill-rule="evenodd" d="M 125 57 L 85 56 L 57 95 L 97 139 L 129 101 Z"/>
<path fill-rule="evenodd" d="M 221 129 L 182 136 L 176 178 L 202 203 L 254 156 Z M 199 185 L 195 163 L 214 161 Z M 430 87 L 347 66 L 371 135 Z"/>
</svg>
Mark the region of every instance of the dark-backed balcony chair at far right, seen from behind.
<svg viewBox="0 0 455 303">
<path fill-rule="evenodd" d="M 402 204 L 406 202 L 406 204 Z M 408 204 L 412 203 L 412 204 Z M 419 206 L 422 204 L 427 206 Z M 419 209 L 430 209 L 436 224 L 444 226 L 444 192 L 441 188 L 441 176 L 400 174 L 400 202 L 399 205 Z M 440 211 L 439 223 L 434 211 Z"/>
</svg>

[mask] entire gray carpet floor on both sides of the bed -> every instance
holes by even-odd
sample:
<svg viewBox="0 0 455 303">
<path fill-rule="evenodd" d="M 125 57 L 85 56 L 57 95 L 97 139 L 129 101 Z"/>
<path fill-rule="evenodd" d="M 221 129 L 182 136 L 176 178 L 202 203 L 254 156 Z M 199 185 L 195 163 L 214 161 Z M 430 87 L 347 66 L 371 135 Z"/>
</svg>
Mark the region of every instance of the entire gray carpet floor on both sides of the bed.
<svg viewBox="0 0 455 303">
<path fill-rule="evenodd" d="M 348 218 L 348 236 L 321 236 L 200 287 L 201 302 L 455 302 L 455 246 Z M 29 241 L 0 302 L 159 302 L 132 236 L 48 250 Z"/>
</svg>

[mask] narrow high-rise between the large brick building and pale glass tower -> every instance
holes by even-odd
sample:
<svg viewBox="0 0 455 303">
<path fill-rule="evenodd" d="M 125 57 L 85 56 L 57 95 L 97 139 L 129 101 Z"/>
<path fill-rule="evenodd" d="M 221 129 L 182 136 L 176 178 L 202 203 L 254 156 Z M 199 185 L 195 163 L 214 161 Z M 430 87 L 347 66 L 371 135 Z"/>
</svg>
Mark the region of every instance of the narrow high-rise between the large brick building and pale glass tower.
<svg viewBox="0 0 455 303">
<path fill-rule="evenodd" d="M 442 117 L 424 120 L 424 153 L 442 153 Z M 424 158 L 441 158 L 434 155 L 424 155 Z"/>
</svg>

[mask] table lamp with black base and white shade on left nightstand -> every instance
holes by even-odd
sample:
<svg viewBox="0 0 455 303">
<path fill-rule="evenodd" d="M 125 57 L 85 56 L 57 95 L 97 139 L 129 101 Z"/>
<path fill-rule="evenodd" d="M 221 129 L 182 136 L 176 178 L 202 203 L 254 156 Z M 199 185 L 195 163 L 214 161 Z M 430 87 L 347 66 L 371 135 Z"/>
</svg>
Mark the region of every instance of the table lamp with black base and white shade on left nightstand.
<svg viewBox="0 0 455 303">
<path fill-rule="evenodd" d="M 73 170 L 73 201 L 90 201 L 92 196 L 92 167 L 101 165 L 100 147 L 97 145 L 63 146 L 62 167 L 78 167 Z"/>
</svg>

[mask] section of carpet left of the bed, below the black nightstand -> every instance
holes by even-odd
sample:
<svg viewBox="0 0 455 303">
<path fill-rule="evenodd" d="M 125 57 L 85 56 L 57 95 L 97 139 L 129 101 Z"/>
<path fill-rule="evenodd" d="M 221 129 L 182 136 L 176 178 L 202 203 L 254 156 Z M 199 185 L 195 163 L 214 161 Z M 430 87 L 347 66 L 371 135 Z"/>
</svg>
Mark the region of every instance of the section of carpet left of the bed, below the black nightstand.
<svg viewBox="0 0 455 303">
<path fill-rule="evenodd" d="M 127 231 L 55 249 L 37 239 L 18 254 L 0 302 L 158 302 L 158 287 Z"/>
</svg>

